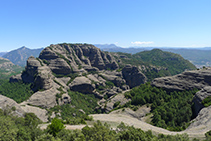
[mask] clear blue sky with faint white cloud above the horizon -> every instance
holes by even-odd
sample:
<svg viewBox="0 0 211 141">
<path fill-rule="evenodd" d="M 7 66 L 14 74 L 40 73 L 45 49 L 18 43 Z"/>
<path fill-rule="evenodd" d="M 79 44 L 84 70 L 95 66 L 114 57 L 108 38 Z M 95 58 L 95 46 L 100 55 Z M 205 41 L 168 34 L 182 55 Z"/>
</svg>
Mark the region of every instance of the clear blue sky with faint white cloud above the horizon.
<svg viewBox="0 0 211 141">
<path fill-rule="evenodd" d="M 211 47 L 211 0 L 0 0 L 0 52 L 57 43 Z"/>
</svg>

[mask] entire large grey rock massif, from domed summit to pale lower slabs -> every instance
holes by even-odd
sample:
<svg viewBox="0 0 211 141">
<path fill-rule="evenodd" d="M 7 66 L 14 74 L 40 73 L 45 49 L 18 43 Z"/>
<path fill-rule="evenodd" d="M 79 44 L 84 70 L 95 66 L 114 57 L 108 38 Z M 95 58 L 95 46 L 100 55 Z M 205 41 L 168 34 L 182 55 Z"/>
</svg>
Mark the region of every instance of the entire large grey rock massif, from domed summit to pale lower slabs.
<svg viewBox="0 0 211 141">
<path fill-rule="evenodd" d="M 10 82 L 32 83 L 33 94 L 25 104 L 42 108 L 70 103 L 68 90 L 95 94 L 103 98 L 128 90 L 147 78 L 135 66 L 125 66 L 122 71 L 110 53 L 101 52 L 93 45 L 57 44 L 45 48 L 39 58 L 29 57 L 25 71 L 10 78 Z M 64 99 L 62 99 L 65 97 Z"/>
</svg>

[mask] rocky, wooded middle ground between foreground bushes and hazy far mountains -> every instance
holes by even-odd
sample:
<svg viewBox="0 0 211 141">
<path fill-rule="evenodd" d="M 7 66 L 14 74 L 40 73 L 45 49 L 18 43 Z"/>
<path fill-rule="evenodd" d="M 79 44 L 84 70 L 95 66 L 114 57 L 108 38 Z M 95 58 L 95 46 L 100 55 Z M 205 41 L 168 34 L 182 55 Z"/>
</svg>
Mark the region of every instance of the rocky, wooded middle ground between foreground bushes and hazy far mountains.
<svg viewBox="0 0 211 141">
<path fill-rule="evenodd" d="M 197 70 L 180 55 L 159 49 L 128 54 L 91 44 L 52 44 L 0 85 L 0 107 L 20 117 L 33 113 L 42 122 L 58 118 L 67 129 L 82 132 L 102 126 L 93 123 L 99 120 L 113 123 L 112 128 L 124 122 L 151 130 L 152 138 L 203 139 L 211 130 L 210 106 L 203 104 L 211 96 L 210 78 L 210 68 Z"/>
</svg>

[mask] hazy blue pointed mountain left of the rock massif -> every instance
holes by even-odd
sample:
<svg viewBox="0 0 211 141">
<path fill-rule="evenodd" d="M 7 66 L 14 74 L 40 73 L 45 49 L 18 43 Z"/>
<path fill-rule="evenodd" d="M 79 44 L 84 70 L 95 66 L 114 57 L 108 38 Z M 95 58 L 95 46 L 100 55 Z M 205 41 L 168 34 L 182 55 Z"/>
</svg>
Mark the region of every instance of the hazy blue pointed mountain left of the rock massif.
<svg viewBox="0 0 211 141">
<path fill-rule="evenodd" d="M 6 53 L 5 55 L 3 55 L 3 58 L 7 58 L 14 64 L 24 67 L 26 65 L 26 60 L 30 56 L 38 57 L 42 50 L 43 48 L 29 49 L 23 46 L 21 48 Z"/>
</svg>

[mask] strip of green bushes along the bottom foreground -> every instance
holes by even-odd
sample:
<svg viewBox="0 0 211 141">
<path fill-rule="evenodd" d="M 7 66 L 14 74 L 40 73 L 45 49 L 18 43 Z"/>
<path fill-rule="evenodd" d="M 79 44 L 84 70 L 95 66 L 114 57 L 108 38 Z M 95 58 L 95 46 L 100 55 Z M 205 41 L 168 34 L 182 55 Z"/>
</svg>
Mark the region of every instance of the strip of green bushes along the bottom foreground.
<svg viewBox="0 0 211 141">
<path fill-rule="evenodd" d="M 187 134 L 155 136 L 151 131 L 144 132 L 121 123 L 115 130 L 105 123 L 97 121 L 92 127 L 82 130 L 66 130 L 62 120 L 54 118 L 47 129 L 39 128 L 40 120 L 32 113 L 24 118 L 6 115 L 0 110 L 0 140 L 2 141 L 189 141 Z M 207 140 L 210 139 L 207 133 Z M 197 139 L 195 139 L 197 140 Z"/>
</svg>

